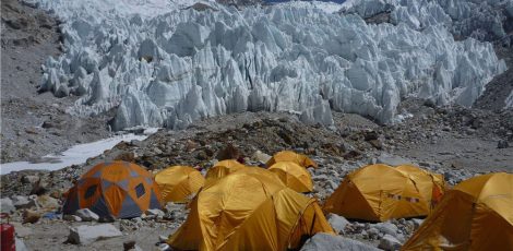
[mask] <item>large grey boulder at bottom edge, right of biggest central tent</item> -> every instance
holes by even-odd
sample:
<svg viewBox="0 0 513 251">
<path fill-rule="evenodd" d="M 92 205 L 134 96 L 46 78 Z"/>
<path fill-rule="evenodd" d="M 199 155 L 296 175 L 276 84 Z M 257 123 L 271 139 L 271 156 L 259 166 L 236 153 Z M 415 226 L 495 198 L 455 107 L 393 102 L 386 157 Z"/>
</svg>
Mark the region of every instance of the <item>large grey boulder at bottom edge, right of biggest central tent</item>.
<svg viewBox="0 0 513 251">
<path fill-rule="evenodd" d="M 351 240 L 342 236 L 332 236 L 324 232 L 319 232 L 314 235 L 301 248 L 301 251 L 324 250 L 378 251 L 379 249 L 357 240 Z"/>
</svg>

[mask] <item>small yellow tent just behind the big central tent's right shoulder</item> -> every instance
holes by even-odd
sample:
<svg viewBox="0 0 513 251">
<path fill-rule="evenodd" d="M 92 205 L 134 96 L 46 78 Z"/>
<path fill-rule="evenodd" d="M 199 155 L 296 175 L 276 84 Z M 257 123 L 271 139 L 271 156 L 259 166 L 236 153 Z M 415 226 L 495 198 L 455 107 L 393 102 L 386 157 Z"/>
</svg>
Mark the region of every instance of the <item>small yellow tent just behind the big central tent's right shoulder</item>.
<svg viewBox="0 0 513 251">
<path fill-rule="evenodd" d="M 279 179 L 296 192 L 311 192 L 313 190 L 312 177 L 305 167 L 293 162 L 279 162 L 269 168 Z"/>
</svg>

